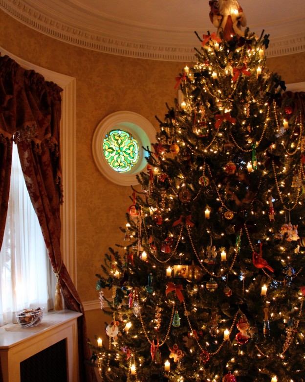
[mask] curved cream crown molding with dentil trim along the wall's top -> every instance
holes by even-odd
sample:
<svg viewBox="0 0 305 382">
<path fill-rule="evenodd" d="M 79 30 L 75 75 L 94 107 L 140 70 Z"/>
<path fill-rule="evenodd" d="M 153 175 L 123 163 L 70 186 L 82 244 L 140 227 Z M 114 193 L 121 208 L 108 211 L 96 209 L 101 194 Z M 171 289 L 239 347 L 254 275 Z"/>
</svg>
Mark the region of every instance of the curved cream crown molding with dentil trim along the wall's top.
<svg viewBox="0 0 305 382">
<path fill-rule="evenodd" d="M 177 30 L 177 28 L 171 28 L 164 30 L 149 27 L 148 25 L 120 24 L 120 28 L 116 28 L 115 35 L 112 35 L 109 31 L 111 31 L 110 24 L 114 23 L 114 21 L 103 19 L 101 24 L 106 25 L 104 29 L 97 27 L 96 18 L 92 24 L 79 22 L 74 23 L 74 25 L 68 18 L 61 21 L 63 16 L 59 12 L 51 9 L 44 12 L 39 8 L 32 7 L 29 3 L 30 1 L 25 2 L 23 0 L 0 0 L 0 9 L 22 24 L 45 35 L 82 48 L 151 60 L 194 61 L 196 38 L 194 38 L 194 32 L 189 29 L 181 28 Z M 267 57 L 305 51 L 303 23 L 301 25 L 299 19 L 293 22 L 296 25 L 296 32 L 286 36 L 281 36 L 281 30 L 284 30 L 283 25 L 288 25 L 288 22 L 269 25 L 272 35 L 281 37 L 271 39 L 269 48 L 266 50 Z M 92 30 L 88 29 L 87 24 L 91 25 Z M 129 28 L 131 28 L 132 33 L 128 33 Z M 108 32 L 106 32 L 106 29 Z M 129 38 L 129 35 L 133 37 Z M 137 37 L 139 35 L 142 41 Z"/>
</svg>

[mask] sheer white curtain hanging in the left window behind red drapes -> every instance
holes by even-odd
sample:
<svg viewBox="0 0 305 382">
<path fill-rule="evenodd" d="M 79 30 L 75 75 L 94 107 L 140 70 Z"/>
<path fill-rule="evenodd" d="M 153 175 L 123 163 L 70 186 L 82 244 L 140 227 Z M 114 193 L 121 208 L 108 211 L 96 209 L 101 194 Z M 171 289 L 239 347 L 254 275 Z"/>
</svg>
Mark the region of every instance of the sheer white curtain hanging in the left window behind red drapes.
<svg viewBox="0 0 305 382">
<path fill-rule="evenodd" d="M 0 250 L 0 325 L 14 321 L 15 312 L 23 308 L 53 308 L 56 279 L 49 263 L 13 144 L 8 214 Z"/>
</svg>

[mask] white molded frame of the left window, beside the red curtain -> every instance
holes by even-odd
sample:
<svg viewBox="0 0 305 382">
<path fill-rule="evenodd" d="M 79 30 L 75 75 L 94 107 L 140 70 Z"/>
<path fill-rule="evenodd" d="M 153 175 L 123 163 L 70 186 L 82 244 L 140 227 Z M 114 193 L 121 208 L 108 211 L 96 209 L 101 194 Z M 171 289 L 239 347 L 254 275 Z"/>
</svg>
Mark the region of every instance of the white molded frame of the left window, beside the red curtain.
<svg viewBox="0 0 305 382">
<path fill-rule="evenodd" d="M 8 55 L 22 68 L 35 70 L 47 81 L 53 81 L 63 88 L 61 119 L 61 151 L 64 204 L 62 215 L 62 255 L 71 280 L 76 287 L 76 204 L 75 204 L 75 78 L 65 74 L 52 72 L 31 64 L 0 47 L 1 55 Z"/>
</svg>

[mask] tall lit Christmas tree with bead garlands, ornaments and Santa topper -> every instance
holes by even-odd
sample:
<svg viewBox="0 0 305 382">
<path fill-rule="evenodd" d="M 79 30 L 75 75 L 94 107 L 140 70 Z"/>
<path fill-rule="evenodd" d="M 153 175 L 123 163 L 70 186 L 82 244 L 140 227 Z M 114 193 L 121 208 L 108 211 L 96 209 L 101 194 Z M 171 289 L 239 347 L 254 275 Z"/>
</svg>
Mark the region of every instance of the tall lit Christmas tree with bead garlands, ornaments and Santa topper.
<svg viewBox="0 0 305 382">
<path fill-rule="evenodd" d="M 242 30 L 237 1 L 210 6 L 217 32 L 175 79 L 97 274 L 103 381 L 304 381 L 302 116 L 265 66 L 269 36 Z"/>
</svg>

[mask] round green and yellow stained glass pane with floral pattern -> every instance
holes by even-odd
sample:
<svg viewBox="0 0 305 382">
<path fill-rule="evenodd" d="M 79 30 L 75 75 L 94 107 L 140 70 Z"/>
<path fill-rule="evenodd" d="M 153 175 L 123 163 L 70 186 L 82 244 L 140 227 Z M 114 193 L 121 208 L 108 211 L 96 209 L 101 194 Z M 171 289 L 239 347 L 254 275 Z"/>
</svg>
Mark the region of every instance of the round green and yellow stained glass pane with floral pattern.
<svg viewBox="0 0 305 382">
<path fill-rule="evenodd" d="M 139 144 L 124 130 L 111 130 L 103 142 L 104 155 L 115 171 L 127 172 L 138 162 Z"/>
</svg>

